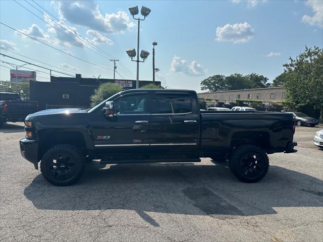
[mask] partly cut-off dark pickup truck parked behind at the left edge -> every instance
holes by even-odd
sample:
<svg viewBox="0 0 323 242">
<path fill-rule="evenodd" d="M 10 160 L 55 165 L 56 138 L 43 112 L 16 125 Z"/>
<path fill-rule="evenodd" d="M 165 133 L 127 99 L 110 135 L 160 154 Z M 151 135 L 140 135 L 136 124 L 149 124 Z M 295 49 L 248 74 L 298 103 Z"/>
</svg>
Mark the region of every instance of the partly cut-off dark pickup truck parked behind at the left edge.
<svg viewBox="0 0 323 242">
<path fill-rule="evenodd" d="M 28 114 L 38 110 L 37 102 L 22 101 L 17 93 L 0 92 L 0 128 L 7 121 L 24 122 Z"/>
</svg>

